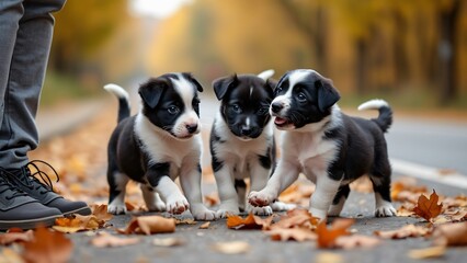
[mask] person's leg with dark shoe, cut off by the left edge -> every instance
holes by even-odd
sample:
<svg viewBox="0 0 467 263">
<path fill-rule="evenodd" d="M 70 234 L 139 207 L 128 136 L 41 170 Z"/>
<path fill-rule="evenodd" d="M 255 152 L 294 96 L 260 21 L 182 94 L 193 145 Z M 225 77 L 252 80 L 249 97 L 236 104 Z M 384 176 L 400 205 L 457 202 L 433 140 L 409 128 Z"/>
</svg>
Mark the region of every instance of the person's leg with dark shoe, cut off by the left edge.
<svg viewBox="0 0 467 263">
<path fill-rule="evenodd" d="M 24 8 L 22 0 L 0 1 L 0 128 L 5 115 L 8 104 L 8 90 L 10 82 L 11 62 L 16 45 L 16 35 Z M 0 139 L 0 149 L 8 147 L 8 140 Z M 10 160 L 10 159 L 8 159 Z M 0 230 L 9 228 L 34 228 L 37 225 L 50 226 L 61 211 L 57 208 L 46 207 L 38 201 L 19 191 L 8 180 L 8 164 L 0 157 Z"/>
</svg>

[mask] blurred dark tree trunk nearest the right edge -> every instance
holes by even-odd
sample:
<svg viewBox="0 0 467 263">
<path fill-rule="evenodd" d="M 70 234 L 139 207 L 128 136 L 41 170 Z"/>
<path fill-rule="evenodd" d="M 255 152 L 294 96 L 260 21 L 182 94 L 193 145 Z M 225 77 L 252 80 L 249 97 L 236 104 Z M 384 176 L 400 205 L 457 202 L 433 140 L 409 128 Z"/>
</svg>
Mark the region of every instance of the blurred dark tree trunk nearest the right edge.
<svg viewBox="0 0 467 263">
<path fill-rule="evenodd" d="M 457 19 L 459 14 L 460 1 L 455 0 L 451 8 L 442 9 L 440 12 L 440 83 L 441 104 L 447 104 L 457 95 Z"/>
</svg>

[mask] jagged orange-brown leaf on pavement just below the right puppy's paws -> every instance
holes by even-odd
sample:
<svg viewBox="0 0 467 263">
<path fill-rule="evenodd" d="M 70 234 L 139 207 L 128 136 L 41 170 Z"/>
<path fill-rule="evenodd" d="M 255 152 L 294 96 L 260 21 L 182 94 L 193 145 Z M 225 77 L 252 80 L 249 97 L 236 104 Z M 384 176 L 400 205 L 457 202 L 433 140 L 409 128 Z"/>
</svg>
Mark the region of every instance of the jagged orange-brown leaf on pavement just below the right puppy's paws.
<svg viewBox="0 0 467 263">
<path fill-rule="evenodd" d="M 326 220 L 321 221 L 316 229 L 316 233 L 318 235 L 318 248 L 334 248 L 335 239 L 341 236 L 350 235 L 348 228 L 352 226 L 354 221 L 354 219 L 335 219 L 330 229 L 326 227 Z"/>
</svg>

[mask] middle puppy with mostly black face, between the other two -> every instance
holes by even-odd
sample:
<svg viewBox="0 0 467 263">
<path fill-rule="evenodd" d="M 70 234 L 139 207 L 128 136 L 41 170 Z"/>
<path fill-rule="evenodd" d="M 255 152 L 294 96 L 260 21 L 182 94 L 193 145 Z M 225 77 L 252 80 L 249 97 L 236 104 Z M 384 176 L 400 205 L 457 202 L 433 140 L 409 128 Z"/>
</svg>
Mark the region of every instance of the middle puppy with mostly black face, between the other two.
<svg viewBox="0 0 467 263">
<path fill-rule="evenodd" d="M 217 218 L 240 210 L 270 215 L 272 208 L 287 208 L 275 202 L 271 206 L 246 207 L 246 182 L 251 190 L 266 185 L 275 167 L 275 141 L 269 107 L 273 100 L 273 70 L 259 76 L 234 75 L 213 82 L 219 111 L 210 132 L 212 165 L 220 197 Z"/>
</svg>

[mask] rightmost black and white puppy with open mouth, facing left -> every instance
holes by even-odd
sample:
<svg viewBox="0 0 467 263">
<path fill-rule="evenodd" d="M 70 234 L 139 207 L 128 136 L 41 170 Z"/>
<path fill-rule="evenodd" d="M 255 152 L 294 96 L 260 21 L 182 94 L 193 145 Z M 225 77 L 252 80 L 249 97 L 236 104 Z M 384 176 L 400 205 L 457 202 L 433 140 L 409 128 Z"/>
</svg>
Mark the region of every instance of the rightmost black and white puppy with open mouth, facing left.
<svg viewBox="0 0 467 263">
<path fill-rule="evenodd" d="M 304 173 L 316 183 L 309 211 L 323 220 L 327 215 L 340 214 L 350 193 L 349 183 L 367 174 L 375 191 L 375 215 L 395 216 L 384 137 L 392 123 L 389 105 L 373 100 L 358 107 L 378 110 L 374 119 L 348 116 L 335 104 L 340 94 L 332 82 L 309 69 L 284 75 L 274 93 L 270 112 L 275 126 L 284 130 L 282 158 L 267 185 L 250 193 L 250 204 L 271 204 Z"/>
</svg>

